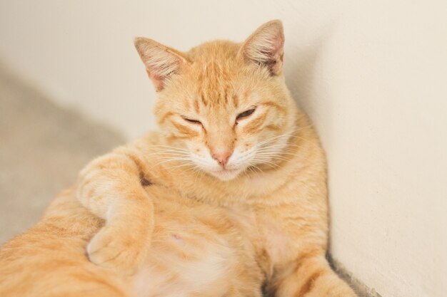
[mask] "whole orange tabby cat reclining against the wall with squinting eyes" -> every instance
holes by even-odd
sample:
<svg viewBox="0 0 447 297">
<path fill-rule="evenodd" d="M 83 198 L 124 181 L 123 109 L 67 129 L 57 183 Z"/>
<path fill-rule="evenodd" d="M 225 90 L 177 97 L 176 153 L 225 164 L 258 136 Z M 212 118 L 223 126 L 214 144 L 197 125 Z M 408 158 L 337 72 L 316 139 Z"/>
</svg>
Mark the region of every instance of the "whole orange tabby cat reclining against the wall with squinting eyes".
<svg viewBox="0 0 447 297">
<path fill-rule="evenodd" d="M 0 296 L 356 296 L 325 259 L 326 162 L 283 43 L 280 21 L 187 53 L 136 38 L 161 132 L 3 246 Z"/>
</svg>

